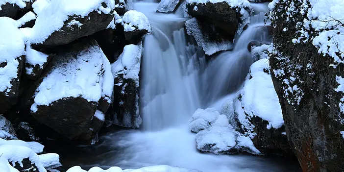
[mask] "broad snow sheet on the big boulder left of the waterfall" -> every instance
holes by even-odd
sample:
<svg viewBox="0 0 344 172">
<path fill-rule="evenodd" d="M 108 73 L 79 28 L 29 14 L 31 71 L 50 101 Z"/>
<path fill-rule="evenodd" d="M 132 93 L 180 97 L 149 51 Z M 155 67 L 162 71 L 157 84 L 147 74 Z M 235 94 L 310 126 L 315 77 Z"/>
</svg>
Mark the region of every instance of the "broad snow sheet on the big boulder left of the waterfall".
<svg viewBox="0 0 344 172">
<path fill-rule="evenodd" d="M 114 79 L 109 72 L 110 63 L 98 45 L 72 54 L 55 57 L 50 62 L 53 68 L 36 90 L 32 112 L 37 112 L 38 106 L 48 106 L 61 98 L 82 97 L 98 102 L 106 96 L 111 101 Z"/>
</svg>

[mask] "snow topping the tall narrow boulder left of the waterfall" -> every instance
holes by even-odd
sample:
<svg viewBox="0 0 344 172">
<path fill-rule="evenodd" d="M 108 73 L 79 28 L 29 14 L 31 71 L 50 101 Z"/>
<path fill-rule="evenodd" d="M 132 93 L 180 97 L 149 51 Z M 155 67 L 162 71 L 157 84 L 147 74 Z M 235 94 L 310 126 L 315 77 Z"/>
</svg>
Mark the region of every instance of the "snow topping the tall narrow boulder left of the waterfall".
<svg viewBox="0 0 344 172">
<path fill-rule="evenodd" d="M 133 79 L 139 87 L 139 73 L 141 65 L 142 45 L 127 45 L 122 54 L 111 64 L 113 77 L 123 74 L 124 79 Z"/>
</svg>

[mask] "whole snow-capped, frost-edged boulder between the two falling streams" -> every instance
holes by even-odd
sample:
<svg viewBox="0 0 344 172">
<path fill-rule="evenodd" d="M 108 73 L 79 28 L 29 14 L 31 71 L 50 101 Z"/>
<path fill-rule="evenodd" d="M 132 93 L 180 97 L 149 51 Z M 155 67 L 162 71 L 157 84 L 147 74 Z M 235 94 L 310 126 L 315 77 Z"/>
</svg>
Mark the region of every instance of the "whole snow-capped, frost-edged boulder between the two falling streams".
<svg viewBox="0 0 344 172">
<path fill-rule="evenodd" d="M 186 0 L 188 34 L 207 55 L 232 49 L 235 35 L 249 23 L 252 7 L 247 0 Z"/>
</svg>

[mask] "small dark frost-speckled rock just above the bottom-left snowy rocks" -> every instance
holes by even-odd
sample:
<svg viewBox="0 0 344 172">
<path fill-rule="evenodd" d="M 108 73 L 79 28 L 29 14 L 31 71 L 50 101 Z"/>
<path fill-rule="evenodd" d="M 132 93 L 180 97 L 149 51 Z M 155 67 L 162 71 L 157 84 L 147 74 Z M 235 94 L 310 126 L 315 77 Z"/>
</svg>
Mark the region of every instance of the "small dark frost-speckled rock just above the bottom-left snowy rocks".
<svg viewBox="0 0 344 172">
<path fill-rule="evenodd" d="M 33 128 L 27 122 L 21 122 L 18 124 L 17 134 L 20 140 L 24 140 L 26 142 L 38 142 L 41 140 L 36 136 L 35 130 L 33 130 Z"/>
</svg>

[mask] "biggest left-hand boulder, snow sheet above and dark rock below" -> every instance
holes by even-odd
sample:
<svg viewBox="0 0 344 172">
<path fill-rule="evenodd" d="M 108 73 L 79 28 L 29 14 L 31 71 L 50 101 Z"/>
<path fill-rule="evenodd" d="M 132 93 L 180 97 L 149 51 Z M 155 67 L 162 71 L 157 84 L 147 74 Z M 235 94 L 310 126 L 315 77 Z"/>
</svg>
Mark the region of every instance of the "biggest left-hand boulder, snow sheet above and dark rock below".
<svg viewBox="0 0 344 172">
<path fill-rule="evenodd" d="M 89 141 L 104 121 L 113 83 L 111 65 L 97 42 L 81 39 L 52 57 L 23 98 L 23 108 L 60 135 Z"/>
</svg>

